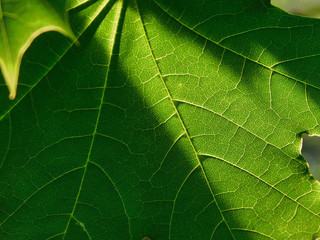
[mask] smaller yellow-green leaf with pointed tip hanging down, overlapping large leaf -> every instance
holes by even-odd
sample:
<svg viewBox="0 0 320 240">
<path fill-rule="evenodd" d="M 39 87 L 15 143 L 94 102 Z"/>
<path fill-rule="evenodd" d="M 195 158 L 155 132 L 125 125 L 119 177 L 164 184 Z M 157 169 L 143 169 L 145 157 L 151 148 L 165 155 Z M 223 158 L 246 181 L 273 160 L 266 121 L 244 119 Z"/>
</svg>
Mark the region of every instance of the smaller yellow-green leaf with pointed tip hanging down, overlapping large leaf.
<svg viewBox="0 0 320 240">
<path fill-rule="evenodd" d="M 48 31 L 74 38 L 65 14 L 65 0 L 0 2 L 0 68 L 11 99 L 16 96 L 23 54 L 36 37 Z"/>
</svg>

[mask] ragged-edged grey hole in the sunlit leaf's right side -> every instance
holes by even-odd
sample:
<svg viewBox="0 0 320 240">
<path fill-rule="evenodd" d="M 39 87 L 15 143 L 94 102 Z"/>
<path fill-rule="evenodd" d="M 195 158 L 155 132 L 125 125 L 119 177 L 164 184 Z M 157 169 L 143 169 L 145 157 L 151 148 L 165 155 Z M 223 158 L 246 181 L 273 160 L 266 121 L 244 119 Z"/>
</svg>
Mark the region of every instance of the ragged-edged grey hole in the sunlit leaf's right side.
<svg viewBox="0 0 320 240">
<path fill-rule="evenodd" d="M 309 163 L 310 173 L 320 180 L 320 136 L 302 135 L 301 154 Z"/>
</svg>

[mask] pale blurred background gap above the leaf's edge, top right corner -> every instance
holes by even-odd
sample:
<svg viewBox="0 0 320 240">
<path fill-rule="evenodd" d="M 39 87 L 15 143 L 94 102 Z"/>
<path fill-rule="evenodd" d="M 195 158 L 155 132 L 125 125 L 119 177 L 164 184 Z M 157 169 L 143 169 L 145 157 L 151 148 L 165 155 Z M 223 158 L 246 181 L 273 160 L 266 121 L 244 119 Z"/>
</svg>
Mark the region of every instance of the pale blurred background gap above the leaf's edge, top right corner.
<svg viewBox="0 0 320 240">
<path fill-rule="evenodd" d="M 291 14 L 320 18 L 320 0 L 271 0 L 271 4 Z"/>
</svg>

